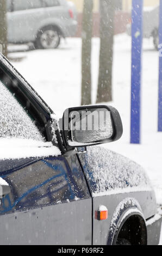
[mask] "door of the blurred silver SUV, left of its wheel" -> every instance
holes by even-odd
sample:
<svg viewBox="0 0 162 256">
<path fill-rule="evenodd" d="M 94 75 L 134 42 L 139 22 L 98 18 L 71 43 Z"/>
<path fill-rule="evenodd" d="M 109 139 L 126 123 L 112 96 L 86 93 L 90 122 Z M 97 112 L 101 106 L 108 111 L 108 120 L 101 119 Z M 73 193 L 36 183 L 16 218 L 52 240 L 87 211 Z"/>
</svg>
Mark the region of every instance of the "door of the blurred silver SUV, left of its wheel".
<svg viewBox="0 0 162 256">
<path fill-rule="evenodd" d="M 34 41 L 43 15 L 42 0 L 13 0 L 13 11 L 8 16 L 9 27 L 13 28 L 10 42 Z"/>
</svg>

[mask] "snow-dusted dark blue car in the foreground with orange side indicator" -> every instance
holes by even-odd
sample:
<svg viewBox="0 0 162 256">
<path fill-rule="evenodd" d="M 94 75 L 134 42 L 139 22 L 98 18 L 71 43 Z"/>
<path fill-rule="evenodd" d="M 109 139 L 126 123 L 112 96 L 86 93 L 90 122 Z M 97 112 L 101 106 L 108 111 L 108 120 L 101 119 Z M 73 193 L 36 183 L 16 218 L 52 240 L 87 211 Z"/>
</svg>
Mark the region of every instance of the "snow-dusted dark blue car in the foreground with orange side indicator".
<svg viewBox="0 0 162 256">
<path fill-rule="evenodd" d="M 122 136 L 114 107 L 69 108 L 58 119 L 2 55 L 0 97 L 1 245 L 159 243 L 161 209 L 145 171 L 99 146 Z"/>
</svg>

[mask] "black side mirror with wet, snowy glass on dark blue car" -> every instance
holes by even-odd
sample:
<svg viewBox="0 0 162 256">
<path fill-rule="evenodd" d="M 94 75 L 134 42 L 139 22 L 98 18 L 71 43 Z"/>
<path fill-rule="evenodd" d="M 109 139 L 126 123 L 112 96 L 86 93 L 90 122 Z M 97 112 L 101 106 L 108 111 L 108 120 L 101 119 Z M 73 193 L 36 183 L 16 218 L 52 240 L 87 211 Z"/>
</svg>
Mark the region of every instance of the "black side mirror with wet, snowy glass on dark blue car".
<svg viewBox="0 0 162 256">
<path fill-rule="evenodd" d="M 120 114 L 110 106 L 68 108 L 62 122 L 67 149 L 117 141 L 123 133 Z"/>
</svg>

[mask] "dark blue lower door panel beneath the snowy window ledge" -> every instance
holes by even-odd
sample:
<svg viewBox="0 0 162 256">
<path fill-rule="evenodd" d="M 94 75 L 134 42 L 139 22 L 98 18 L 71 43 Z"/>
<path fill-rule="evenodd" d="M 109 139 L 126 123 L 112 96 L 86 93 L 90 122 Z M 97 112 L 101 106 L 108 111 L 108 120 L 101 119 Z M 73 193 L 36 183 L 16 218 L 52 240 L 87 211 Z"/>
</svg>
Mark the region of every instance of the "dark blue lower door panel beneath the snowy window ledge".
<svg viewBox="0 0 162 256">
<path fill-rule="evenodd" d="M 1 245 L 90 245 L 91 198 L 77 157 L 23 162 L 0 162 L 11 188 L 0 207 Z"/>
</svg>

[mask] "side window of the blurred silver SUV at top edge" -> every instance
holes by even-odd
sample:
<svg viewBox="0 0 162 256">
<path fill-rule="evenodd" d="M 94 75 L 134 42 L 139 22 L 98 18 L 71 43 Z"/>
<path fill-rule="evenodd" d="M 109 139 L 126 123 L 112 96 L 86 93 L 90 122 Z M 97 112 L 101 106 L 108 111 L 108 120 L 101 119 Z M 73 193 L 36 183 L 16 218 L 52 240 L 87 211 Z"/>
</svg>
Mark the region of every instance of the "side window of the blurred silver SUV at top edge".
<svg viewBox="0 0 162 256">
<path fill-rule="evenodd" d="M 14 0 L 14 10 L 28 10 L 28 9 L 35 9 L 35 8 L 41 8 L 42 2 L 41 0 Z"/>
</svg>

